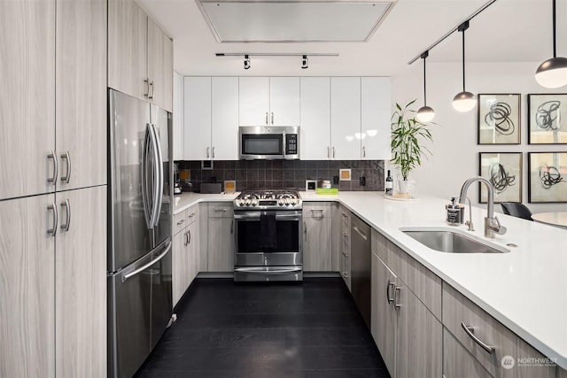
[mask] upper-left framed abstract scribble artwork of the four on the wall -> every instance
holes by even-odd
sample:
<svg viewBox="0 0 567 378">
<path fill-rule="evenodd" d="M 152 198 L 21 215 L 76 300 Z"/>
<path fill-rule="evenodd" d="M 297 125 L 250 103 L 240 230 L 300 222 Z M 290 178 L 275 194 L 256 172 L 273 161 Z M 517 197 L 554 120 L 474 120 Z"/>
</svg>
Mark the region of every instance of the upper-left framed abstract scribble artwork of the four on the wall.
<svg viewBox="0 0 567 378">
<path fill-rule="evenodd" d="M 478 94 L 478 144 L 520 144 L 520 98 Z"/>
</svg>

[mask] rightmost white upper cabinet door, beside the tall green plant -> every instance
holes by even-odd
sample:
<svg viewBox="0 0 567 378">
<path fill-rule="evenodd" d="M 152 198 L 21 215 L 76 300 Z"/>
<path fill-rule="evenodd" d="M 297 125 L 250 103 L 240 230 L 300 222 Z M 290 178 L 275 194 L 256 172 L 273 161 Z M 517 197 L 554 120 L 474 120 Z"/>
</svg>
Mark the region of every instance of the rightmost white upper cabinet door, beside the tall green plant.
<svg viewBox="0 0 567 378">
<path fill-rule="evenodd" d="M 390 159 L 391 97 L 389 77 L 361 78 L 362 159 Z"/>
</svg>

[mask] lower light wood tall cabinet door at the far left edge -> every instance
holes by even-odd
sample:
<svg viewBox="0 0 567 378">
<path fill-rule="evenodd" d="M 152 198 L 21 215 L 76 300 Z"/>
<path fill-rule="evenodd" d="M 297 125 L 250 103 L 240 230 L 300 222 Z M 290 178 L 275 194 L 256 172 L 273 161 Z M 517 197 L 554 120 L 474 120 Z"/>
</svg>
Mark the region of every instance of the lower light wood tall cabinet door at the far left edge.
<svg viewBox="0 0 567 378">
<path fill-rule="evenodd" d="M 55 376 L 55 238 L 47 233 L 54 226 L 47 209 L 52 204 L 53 194 L 0 201 L 3 377 Z"/>
</svg>

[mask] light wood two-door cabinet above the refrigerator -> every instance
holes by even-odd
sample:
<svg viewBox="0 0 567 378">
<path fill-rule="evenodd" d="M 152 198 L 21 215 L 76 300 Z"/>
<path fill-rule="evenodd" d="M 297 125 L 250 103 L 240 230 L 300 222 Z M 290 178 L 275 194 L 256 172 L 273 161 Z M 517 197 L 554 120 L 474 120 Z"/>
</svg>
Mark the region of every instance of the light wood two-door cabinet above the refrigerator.
<svg viewBox="0 0 567 378">
<path fill-rule="evenodd" d="M 108 1 L 108 86 L 173 108 L 173 42 L 134 0 Z"/>
</svg>

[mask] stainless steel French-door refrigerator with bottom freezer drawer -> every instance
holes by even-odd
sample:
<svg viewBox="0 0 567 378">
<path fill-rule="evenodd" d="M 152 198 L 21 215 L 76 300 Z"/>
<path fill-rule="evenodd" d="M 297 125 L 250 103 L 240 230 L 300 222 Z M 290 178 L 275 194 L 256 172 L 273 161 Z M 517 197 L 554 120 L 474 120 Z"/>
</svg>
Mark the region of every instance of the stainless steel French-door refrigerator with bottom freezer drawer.
<svg viewBox="0 0 567 378">
<path fill-rule="evenodd" d="M 108 375 L 130 377 L 172 314 L 171 113 L 109 89 Z"/>
</svg>

